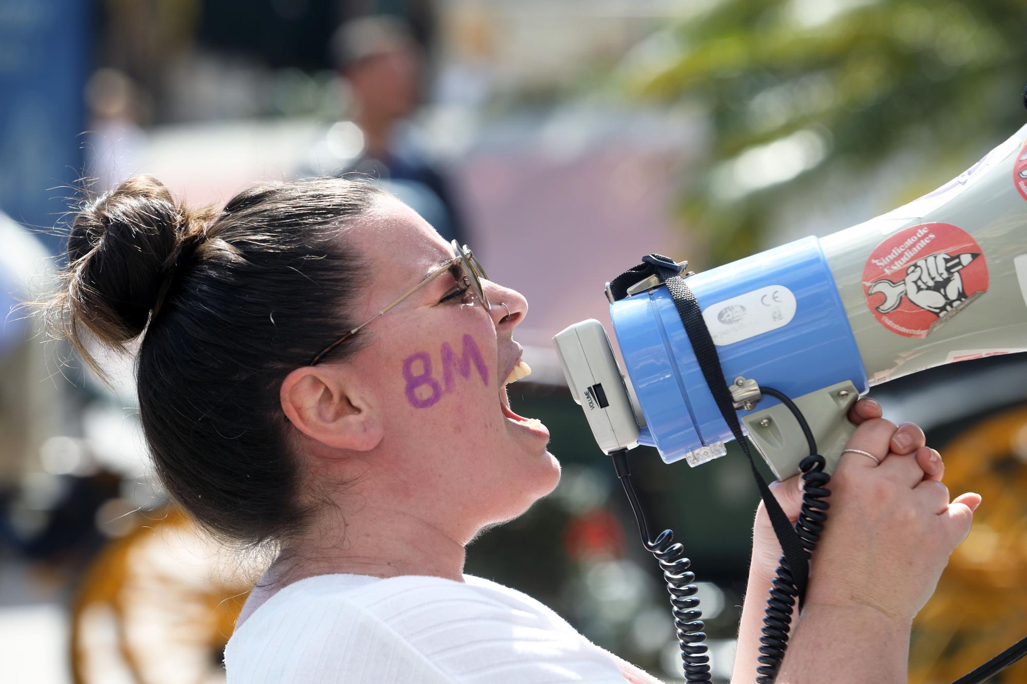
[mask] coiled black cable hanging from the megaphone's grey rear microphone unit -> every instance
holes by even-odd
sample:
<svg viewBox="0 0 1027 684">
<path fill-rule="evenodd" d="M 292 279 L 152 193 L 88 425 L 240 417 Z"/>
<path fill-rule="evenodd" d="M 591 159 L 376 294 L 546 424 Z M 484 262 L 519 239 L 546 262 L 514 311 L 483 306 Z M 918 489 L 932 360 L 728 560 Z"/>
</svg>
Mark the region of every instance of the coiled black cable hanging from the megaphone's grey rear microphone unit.
<svg viewBox="0 0 1027 684">
<path fill-rule="evenodd" d="M 627 501 L 632 504 L 635 522 L 639 526 L 639 534 L 646 550 L 655 557 L 663 571 L 667 591 L 671 595 L 674 626 L 677 630 L 678 642 L 681 645 L 682 668 L 686 682 L 710 682 L 710 656 L 707 655 L 705 624 L 700 619 L 702 611 L 698 609 L 699 600 L 695 594 L 698 588 L 694 573 L 688 570 L 692 562 L 685 558 L 685 547 L 680 542 L 674 543 L 674 532 L 663 530 L 653 539 L 649 534 L 649 523 L 639 503 L 638 495 L 632 486 L 631 470 L 627 467 L 627 450 L 618 449 L 610 454 L 617 470 L 617 478 L 624 488 Z"/>
</svg>

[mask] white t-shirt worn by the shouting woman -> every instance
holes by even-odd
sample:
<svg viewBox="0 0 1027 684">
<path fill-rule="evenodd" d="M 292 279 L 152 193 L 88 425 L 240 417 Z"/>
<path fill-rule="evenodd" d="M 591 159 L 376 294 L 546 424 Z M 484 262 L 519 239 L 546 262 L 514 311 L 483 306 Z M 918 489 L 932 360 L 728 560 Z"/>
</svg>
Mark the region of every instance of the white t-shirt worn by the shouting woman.
<svg viewBox="0 0 1027 684">
<path fill-rule="evenodd" d="M 538 601 L 464 579 L 289 584 L 232 635 L 228 684 L 624 684 L 609 653 Z"/>
</svg>

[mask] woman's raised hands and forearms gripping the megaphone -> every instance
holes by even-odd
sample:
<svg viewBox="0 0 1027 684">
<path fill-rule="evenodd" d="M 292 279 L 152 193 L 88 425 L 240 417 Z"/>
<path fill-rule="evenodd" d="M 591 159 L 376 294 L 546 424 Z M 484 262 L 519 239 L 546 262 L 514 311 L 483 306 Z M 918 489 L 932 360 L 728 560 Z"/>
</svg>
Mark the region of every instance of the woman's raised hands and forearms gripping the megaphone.
<svg viewBox="0 0 1027 684">
<path fill-rule="evenodd" d="M 949 503 L 941 456 L 912 423 L 896 427 L 873 400 L 849 412 L 858 424 L 832 476 L 831 508 L 813 553 L 802 615 L 793 620 L 778 681 L 906 681 L 910 622 L 930 597 L 949 554 L 969 532 L 977 494 Z M 799 478 L 770 485 L 789 518 L 802 502 Z M 732 681 L 753 681 L 759 630 L 781 546 L 763 504 Z M 831 643 L 830 649 L 824 649 Z"/>
</svg>

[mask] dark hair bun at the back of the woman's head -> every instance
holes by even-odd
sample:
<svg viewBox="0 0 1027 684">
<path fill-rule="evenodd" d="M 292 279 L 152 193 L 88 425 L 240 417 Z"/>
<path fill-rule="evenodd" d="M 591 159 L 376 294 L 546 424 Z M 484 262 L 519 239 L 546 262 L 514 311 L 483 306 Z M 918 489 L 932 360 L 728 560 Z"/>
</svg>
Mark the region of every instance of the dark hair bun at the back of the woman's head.
<svg viewBox="0 0 1027 684">
<path fill-rule="evenodd" d="M 109 345 L 138 337 L 163 297 L 188 223 L 170 191 L 149 176 L 85 202 L 68 237 L 72 315 Z"/>
</svg>

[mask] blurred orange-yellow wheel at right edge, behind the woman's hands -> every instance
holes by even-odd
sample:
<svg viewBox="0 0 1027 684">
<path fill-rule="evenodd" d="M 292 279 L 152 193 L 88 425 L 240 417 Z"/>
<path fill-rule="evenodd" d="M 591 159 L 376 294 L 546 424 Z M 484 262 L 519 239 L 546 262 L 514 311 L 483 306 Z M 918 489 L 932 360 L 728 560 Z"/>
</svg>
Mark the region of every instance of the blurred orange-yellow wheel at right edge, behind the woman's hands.
<svg viewBox="0 0 1027 684">
<path fill-rule="evenodd" d="M 1027 405 L 959 421 L 946 444 L 945 482 L 987 506 L 914 621 L 910 681 L 969 672 L 1027 633 Z M 1027 681 L 1027 660 L 995 682 Z"/>
</svg>

